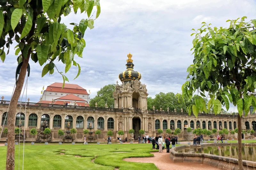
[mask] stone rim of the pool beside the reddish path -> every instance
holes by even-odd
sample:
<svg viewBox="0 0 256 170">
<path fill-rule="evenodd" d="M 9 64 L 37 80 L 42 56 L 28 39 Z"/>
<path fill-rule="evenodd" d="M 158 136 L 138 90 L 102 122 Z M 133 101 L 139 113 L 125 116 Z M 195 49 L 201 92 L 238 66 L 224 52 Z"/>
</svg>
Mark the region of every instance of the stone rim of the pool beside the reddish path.
<svg viewBox="0 0 256 170">
<path fill-rule="evenodd" d="M 186 147 L 191 148 L 202 148 L 207 146 L 225 146 L 225 145 L 231 145 L 231 143 L 227 144 L 214 144 L 214 143 L 208 143 L 208 144 L 201 144 L 201 145 L 182 145 L 175 148 L 172 148 L 170 150 L 170 159 L 172 159 L 173 162 L 197 162 L 201 164 L 208 164 L 210 166 L 216 166 L 218 169 L 232 169 L 232 170 L 239 170 L 238 166 L 238 159 L 235 158 L 229 158 L 229 157 L 223 157 L 218 155 L 212 155 L 207 153 L 178 153 L 176 151 L 180 149 L 184 149 Z M 237 144 L 232 143 L 233 146 L 236 146 Z M 242 144 L 244 145 L 244 144 Z M 251 146 L 251 144 L 245 144 L 246 146 Z M 252 144 L 256 146 L 256 144 Z M 255 162 L 252 161 L 246 161 L 243 160 L 243 166 L 244 169 L 248 170 L 254 169 Z"/>
</svg>

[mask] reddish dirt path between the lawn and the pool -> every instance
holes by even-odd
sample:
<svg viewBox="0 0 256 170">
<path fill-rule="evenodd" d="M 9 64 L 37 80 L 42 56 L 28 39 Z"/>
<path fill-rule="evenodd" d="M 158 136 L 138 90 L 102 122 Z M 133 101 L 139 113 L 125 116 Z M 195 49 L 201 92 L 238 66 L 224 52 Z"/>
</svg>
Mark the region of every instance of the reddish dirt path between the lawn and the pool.
<svg viewBox="0 0 256 170">
<path fill-rule="evenodd" d="M 166 150 L 165 150 L 166 151 Z M 128 162 L 141 162 L 141 163 L 154 163 L 158 169 L 166 170 L 167 167 L 171 167 L 172 170 L 188 170 L 188 169 L 196 169 L 196 170 L 216 170 L 215 167 L 211 167 L 205 164 L 197 164 L 197 163 L 173 163 L 169 158 L 170 153 L 159 153 L 152 152 L 154 157 L 150 158 L 125 158 L 123 160 Z M 168 168 L 167 168 L 168 169 Z"/>
</svg>

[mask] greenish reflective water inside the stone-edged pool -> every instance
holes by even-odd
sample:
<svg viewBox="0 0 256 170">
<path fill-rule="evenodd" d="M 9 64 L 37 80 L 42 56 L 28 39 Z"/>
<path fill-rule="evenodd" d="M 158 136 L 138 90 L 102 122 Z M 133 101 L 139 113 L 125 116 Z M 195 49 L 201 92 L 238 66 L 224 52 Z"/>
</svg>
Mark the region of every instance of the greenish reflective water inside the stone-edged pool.
<svg viewBox="0 0 256 170">
<path fill-rule="evenodd" d="M 231 151 L 231 152 L 230 152 Z M 184 148 L 176 151 L 178 153 L 208 153 L 238 159 L 237 146 L 207 146 L 202 148 Z M 230 156 L 231 153 L 231 156 Z M 247 159 L 246 159 L 247 158 Z M 242 146 L 242 159 L 256 161 L 256 146 Z"/>
</svg>

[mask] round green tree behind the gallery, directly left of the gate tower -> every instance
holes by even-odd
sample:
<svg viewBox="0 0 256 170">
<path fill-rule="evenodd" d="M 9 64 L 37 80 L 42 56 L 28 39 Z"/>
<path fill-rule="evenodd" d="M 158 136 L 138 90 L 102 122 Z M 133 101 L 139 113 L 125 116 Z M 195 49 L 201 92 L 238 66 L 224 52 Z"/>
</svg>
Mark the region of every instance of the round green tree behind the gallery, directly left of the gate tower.
<svg viewBox="0 0 256 170">
<path fill-rule="evenodd" d="M 105 104 L 107 103 L 108 107 L 114 108 L 115 100 L 113 92 L 115 87 L 116 85 L 110 84 L 100 88 L 97 95 L 90 100 L 90 106 L 95 107 L 95 103 L 97 102 L 97 107 L 105 107 Z"/>
</svg>

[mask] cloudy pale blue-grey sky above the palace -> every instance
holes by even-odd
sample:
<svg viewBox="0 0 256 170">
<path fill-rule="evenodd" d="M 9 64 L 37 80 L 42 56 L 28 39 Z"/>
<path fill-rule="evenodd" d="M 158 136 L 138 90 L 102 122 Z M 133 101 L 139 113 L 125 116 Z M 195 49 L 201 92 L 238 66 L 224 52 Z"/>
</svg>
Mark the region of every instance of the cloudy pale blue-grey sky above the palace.
<svg viewBox="0 0 256 170">
<path fill-rule="evenodd" d="M 69 83 L 91 90 L 91 98 L 104 85 L 116 84 L 118 74 L 126 69 L 129 52 L 133 55 L 134 70 L 140 71 L 141 83 L 147 85 L 149 96 L 154 98 L 159 92 L 181 92 L 187 67 L 193 61 L 190 51 L 192 28 L 200 28 L 203 21 L 212 23 L 212 27 L 225 27 L 229 26 L 228 19 L 243 16 L 256 19 L 253 0 L 101 0 L 100 6 L 95 27 L 85 31 L 83 58 L 75 56 L 81 74 L 73 80 L 77 74 L 75 66 L 66 74 Z M 79 23 L 83 18 L 87 15 L 72 13 L 62 17 L 61 23 L 72 29 L 69 23 Z M 15 82 L 15 46 L 13 43 L 5 62 L 0 63 L 0 96 L 4 96 L 4 100 L 10 100 Z M 57 66 L 65 72 L 62 63 Z M 43 86 L 63 81 L 56 71 L 41 78 L 43 67 L 32 60 L 30 67 L 30 102 L 39 101 Z M 229 111 L 233 112 L 233 107 L 230 106 Z"/>
</svg>

